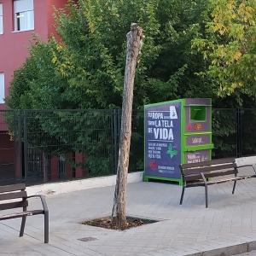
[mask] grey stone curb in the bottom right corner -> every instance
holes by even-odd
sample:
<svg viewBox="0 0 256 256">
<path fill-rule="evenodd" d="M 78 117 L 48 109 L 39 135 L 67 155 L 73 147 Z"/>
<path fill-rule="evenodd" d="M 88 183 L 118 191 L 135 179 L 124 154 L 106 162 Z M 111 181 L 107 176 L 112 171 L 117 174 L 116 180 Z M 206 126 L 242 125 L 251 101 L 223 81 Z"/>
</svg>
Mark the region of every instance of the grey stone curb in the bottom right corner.
<svg viewBox="0 0 256 256">
<path fill-rule="evenodd" d="M 184 256 L 231 256 L 240 253 L 249 253 L 253 250 L 256 250 L 256 241 L 243 242 L 229 247 L 216 248 L 201 253 L 186 254 Z"/>
</svg>

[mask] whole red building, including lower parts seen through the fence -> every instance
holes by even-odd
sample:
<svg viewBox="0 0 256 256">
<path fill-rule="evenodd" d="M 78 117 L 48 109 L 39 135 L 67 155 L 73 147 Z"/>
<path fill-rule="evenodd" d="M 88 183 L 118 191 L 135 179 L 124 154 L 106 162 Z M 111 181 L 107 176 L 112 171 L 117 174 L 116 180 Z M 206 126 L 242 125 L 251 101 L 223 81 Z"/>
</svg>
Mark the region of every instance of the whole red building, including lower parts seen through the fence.
<svg viewBox="0 0 256 256">
<path fill-rule="evenodd" d="M 63 9 L 67 0 L 0 0 L 0 183 L 14 180 L 24 173 L 24 145 L 15 143 L 9 136 L 4 120 L 5 98 L 9 95 L 9 83 L 16 69 L 22 66 L 29 55 L 29 47 L 34 35 L 47 41 L 55 32 L 55 9 Z M 32 158 L 42 164 L 42 153 L 32 154 Z M 44 153 L 43 153 L 44 154 Z M 73 153 L 76 161 L 83 161 L 83 155 Z M 60 177 L 63 163 L 60 157 L 49 160 L 49 178 Z M 68 177 L 83 177 L 84 171 L 78 167 L 72 170 L 64 163 Z M 31 169 L 34 170 L 32 166 Z M 40 170 L 39 170 L 40 169 Z M 39 172 L 43 172 L 40 167 Z M 73 174 L 72 174 L 73 172 Z"/>
</svg>

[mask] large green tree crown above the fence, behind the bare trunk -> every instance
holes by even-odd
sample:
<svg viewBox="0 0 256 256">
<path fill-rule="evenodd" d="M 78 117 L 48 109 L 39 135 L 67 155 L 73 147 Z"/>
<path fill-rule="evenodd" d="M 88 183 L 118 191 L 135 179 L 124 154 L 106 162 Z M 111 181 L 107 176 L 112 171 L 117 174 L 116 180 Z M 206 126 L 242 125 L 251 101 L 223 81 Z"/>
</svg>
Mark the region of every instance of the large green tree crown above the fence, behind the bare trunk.
<svg viewBox="0 0 256 256">
<path fill-rule="evenodd" d="M 206 9 L 202 0 L 70 1 L 67 13 L 56 13 L 61 42 L 34 40 L 30 57 L 15 73 L 9 107 L 119 107 L 131 22 L 143 26 L 146 35 L 135 108 L 177 97 L 213 96 L 212 81 L 195 75 L 204 61 L 190 49 Z"/>
</svg>

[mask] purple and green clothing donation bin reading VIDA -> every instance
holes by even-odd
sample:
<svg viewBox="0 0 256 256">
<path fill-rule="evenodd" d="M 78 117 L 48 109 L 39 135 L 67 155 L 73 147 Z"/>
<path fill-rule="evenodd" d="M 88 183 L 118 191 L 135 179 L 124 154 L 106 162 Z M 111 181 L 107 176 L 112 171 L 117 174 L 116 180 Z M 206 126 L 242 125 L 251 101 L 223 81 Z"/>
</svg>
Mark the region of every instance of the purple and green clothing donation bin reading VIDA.
<svg viewBox="0 0 256 256">
<path fill-rule="evenodd" d="M 144 181 L 182 184 L 179 165 L 211 160 L 212 100 L 187 98 L 144 106 Z"/>
</svg>

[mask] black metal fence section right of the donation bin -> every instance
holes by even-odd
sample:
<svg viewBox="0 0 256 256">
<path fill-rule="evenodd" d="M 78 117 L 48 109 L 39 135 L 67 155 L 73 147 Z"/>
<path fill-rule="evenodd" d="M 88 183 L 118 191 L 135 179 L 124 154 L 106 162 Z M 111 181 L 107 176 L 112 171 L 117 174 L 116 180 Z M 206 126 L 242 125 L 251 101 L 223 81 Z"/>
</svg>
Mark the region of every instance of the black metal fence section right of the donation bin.
<svg viewBox="0 0 256 256">
<path fill-rule="evenodd" d="M 256 109 L 212 110 L 213 158 L 256 154 Z"/>
</svg>

